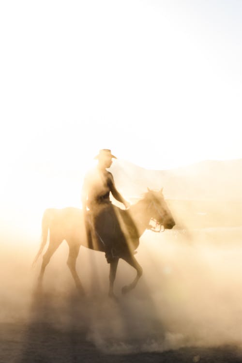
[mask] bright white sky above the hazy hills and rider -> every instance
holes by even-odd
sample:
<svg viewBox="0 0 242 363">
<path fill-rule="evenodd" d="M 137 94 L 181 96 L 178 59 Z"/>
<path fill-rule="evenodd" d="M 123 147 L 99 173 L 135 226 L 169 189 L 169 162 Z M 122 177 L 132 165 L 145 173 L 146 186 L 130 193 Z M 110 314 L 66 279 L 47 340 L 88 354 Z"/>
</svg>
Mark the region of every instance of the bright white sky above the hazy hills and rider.
<svg viewBox="0 0 242 363">
<path fill-rule="evenodd" d="M 12 188 L 101 148 L 151 169 L 242 158 L 241 17 L 240 0 L 1 1 Z"/>
</svg>

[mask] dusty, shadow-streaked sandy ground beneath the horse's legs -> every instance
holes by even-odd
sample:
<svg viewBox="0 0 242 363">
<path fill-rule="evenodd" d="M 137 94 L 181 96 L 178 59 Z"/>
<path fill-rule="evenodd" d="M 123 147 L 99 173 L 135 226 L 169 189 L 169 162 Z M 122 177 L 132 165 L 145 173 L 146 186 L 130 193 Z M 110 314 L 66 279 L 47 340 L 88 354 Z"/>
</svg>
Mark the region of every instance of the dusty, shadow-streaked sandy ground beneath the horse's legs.
<svg viewBox="0 0 242 363">
<path fill-rule="evenodd" d="M 107 298 L 108 265 L 81 249 L 81 298 L 66 266 L 65 242 L 36 289 L 38 241 L 1 247 L 0 362 L 242 362 L 242 228 L 148 232 L 137 259 L 121 261 L 117 301 Z M 24 241 L 24 242 L 23 242 Z M 21 248 L 20 248 L 20 244 Z"/>
</svg>

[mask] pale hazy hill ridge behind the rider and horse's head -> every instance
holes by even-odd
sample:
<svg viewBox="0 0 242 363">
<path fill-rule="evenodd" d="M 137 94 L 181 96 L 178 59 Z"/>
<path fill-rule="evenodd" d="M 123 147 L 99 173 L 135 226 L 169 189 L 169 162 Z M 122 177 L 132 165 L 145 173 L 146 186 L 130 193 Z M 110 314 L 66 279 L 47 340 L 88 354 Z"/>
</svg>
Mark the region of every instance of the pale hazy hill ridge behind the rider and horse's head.
<svg viewBox="0 0 242 363">
<path fill-rule="evenodd" d="M 168 199 L 242 202 L 242 159 L 203 161 L 171 170 L 148 170 L 124 160 L 110 168 L 120 191 L 138 197 L 147 187 Z"/>
</svg>

